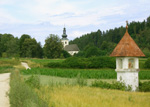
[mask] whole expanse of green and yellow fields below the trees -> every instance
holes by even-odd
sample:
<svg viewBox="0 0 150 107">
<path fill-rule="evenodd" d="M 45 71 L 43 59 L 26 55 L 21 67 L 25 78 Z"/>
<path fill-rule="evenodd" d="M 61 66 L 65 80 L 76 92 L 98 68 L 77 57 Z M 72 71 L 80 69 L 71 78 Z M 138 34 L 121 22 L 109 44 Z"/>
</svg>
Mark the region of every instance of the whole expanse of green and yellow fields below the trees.
<svg viewBox="0 0 150 107">
<path fill-rule="evenodd" d="M 31 70 L 25 70 L 25 61 Z M 0 72 L 11 72 L 11 107 L 137 107 L 150 106 L 150 92 L 128 92 L 92 87 L 94 81 L 116 81 L 114 69 L 47 68 L 52 59 L 0 59 Z M 146 59 L 141 59 L 143 66 Z M 141 63 L 142 62 L 142 63 Z M 150 69 L 141 69 L 140 81 L 150 81 Z M 17 91 L 16 91 L 17 90 Z"/>
</svg>

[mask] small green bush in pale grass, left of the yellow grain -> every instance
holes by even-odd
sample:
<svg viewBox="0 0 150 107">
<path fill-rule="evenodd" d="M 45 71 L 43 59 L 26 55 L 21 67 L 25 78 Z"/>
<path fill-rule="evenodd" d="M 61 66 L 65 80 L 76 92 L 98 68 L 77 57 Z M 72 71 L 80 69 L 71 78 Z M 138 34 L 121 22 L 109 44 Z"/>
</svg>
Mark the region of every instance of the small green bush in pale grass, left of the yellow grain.
<svg viewBox="0 0 150 107">
<path fill-rule="evenodd" d="M 25 83 L 27 83 L 29 86 L 33 88 L 40 88 L 40 78 L 38 76 L 30 76 Z"/>
</svg>

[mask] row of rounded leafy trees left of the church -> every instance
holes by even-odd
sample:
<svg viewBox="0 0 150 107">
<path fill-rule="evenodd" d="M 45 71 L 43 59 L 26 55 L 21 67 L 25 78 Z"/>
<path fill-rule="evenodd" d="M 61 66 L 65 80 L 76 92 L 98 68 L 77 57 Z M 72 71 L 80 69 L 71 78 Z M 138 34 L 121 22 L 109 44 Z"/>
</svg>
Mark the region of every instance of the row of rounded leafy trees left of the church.
<svg viewBox="0 0 150 107">
<path fill-rule="evenodd" d="M 46 38 L 44 47 L 27 34 L 23 34 L 20 38 L 12 34 L 0 34 L 0 57 L 4 58 L 64 58 L 69 56 L 62 47 L 59 37 L 54 34 Z"/>
</svg>

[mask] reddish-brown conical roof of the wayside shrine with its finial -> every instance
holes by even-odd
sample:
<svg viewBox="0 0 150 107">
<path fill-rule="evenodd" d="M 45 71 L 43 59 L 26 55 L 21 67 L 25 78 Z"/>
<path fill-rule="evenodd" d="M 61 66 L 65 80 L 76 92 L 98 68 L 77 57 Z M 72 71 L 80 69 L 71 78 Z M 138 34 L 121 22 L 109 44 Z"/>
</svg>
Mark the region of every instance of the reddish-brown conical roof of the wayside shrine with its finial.
<svg viewBox="0 0 150 107">
<path fill-rule="evenodd" d="M 135 41 L 131 38 L 128 33 L 128 25 L 126 26 L 126 33 L 115 47 L 110 56 L 120 57 L 120 56 L 129 56 L 129 57 L 143 57 L 145 56 Z"/>
</svg>

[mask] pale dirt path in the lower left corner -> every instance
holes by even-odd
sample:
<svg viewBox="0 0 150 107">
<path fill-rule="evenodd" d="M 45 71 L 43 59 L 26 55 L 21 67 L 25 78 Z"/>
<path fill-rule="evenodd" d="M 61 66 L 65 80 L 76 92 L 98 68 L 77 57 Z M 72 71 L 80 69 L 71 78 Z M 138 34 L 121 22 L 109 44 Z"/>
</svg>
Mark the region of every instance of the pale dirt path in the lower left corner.
<svg viewBox="0 0 150 107">
<path fill-rule="evenodd" d="M 10 73 L 0 74 L 0 107 L 10 107 L 9 97 L 6 94 L 9 91 L 9 78 Z"/>
</svg>

